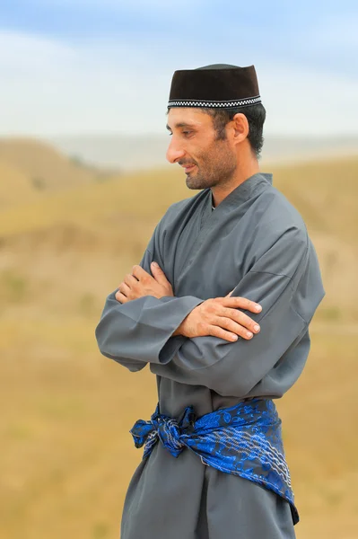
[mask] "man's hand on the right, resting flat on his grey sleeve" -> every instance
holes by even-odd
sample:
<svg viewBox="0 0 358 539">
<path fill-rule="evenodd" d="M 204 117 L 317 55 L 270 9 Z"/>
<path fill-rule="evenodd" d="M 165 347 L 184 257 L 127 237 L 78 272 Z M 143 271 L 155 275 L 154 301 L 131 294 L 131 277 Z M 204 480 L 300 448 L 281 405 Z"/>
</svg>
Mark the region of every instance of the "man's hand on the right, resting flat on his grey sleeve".
<svg viewBox="0 0 358 539">
<path fill-rule="evenodd" d="M 174 335 L 204 337 L 212 335 L 220 339 L 235 341 L 238 335 L 250 340 L 254 333 L 260 331 L 258 323 L 249 318 L 247 314 L 237 309 L 245 309 L 251 313 L 260 313 L 261 305 L 245 297 L 214 297 L 207 299 L 188 314 L 188 316 L 174 331 Z"/>
</svg>

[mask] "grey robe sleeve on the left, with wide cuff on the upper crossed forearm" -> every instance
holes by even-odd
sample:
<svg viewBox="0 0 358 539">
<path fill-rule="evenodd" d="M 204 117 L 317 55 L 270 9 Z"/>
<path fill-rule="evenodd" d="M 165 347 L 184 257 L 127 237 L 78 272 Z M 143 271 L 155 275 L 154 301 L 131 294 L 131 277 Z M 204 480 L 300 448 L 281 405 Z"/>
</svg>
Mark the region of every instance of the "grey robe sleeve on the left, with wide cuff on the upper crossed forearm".
<svg viewBox="0 0 358 539">
<path fill-rule="evenodd" d="M 140 265 L 151 273 L 151 263 L 157 261 L 163 268 L 160 252 L 160 226 L 157 225 L 152 239 L 144 252 Z M 158 299 L 143 296 L 121 304 L 114 290 L 106 299 L 95 336 L 100 353 L 118 361 L 130 371 L 139 371 L 147 363 L 159 362 L 165 345 L 166 358 L 170 359 L 185 337 L 171 337 L 184 318 L 204 300 L 195 296 Z"/>
</svg>

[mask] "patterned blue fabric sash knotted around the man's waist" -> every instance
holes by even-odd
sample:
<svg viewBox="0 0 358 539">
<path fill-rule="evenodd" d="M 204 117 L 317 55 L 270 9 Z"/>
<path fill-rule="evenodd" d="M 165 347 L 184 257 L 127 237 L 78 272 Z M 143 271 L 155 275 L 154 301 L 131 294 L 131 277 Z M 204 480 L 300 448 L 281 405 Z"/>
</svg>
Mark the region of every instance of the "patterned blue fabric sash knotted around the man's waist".
<svg viewBox="0 0 358 539">
<path fill-rule="evenodd" d="M 203 464 L 273 490 L 290 503 L 293 523 L 299 521 L 284 458 L 281 420 L 272 400 L 242 401 L 198 419 L 188 406 L 179 422 L 162 415 L 158 404 L 151 420 L 136 421 L 130 433 L 135 447 L 145 445 L 143 458 L 152 453 L 158 440 L 175 457 L 188 447 Z"/>
</svg>

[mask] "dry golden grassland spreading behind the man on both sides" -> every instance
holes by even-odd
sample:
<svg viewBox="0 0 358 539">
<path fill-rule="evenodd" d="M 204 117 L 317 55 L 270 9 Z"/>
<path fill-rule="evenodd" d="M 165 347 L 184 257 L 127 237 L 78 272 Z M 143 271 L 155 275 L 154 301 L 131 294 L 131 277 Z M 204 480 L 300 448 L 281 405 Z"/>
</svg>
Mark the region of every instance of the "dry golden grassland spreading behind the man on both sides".
<svg viewBox="0 0 358 539">
<path fill-rule="evenodd" d="M 31 171 L 6 160 L 7 168 L 0 164 L 0 196 L 7 196 L 0 208 L 0 537 L 118 538 L 127 484 L 142 453 L 128 430 L 153 411 L 155 381 L 148 369 L 131 374 L 101 357 L 94 328 L 105 296 L 139 261 L 163 212 L 193 192 L 173 169 L 74 180 L 71 189 L 39 196 L 26 182 Z M 11 167 L 17 175 L 6 172 Z M 307 367 L 277 403 L 301 512 L 296 533 L 354 539 L 358 159 L 267 172 L 304 216 L 327 289 L 311 326 Z"/>
</svg>

